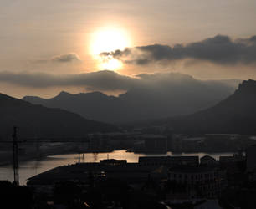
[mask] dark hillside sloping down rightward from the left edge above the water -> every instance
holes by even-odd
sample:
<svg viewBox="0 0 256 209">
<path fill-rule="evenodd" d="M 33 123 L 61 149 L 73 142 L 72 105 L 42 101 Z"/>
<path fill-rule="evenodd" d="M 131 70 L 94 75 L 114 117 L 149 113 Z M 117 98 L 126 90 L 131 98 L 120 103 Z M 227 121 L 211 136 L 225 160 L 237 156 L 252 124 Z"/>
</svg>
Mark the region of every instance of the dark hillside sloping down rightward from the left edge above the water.
<svg viewBox="0 0 256 209">
<path fill-rule="evenodd" d="M 85 120 L 66 110 L 30 104 L 0 94 L 0 136 L 10 138 L 13 125 L 19 127 L 20 136 L 83 136 L 94 131 L 115 130 L 113 125 Z"/>
</svg>

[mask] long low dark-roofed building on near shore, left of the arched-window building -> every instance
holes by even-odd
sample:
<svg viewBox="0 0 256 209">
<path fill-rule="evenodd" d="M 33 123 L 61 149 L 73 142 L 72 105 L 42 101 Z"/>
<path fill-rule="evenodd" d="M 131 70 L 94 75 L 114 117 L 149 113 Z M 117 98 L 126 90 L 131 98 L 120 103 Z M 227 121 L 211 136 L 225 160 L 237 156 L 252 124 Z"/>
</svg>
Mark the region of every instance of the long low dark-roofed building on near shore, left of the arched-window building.
<svg viewBox="0 0 256 209">
<path fill-rule="evenodd" d="M 163 166 L 141 166 L 139 163 L 127 163 L 126 160 L 103 160 L 100 163 L 78 163 L 59 166 L 28 179 L 27 185 L 35 191 L 51 194 L 54 185 L 72 181 L 84 188 L 102 181 L 125 181 L 132 185 L 141 185 L 149 178 L 154 181 L 167 179 L 167 169 Z"/>
</svg>

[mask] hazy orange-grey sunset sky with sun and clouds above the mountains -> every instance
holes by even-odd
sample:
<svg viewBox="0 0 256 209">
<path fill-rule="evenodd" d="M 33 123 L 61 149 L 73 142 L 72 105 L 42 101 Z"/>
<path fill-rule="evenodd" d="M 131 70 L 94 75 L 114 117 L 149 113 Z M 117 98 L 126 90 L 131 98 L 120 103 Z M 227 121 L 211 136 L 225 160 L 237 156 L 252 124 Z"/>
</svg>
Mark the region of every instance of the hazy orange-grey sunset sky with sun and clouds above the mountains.
<svg viewBox="0 0 256 209">
<path fill-rule="evenodd" d="M 0 92 L 52 97 L 105 76 L 119 84 L 170 72 L 256 79 L 255 8 L 254 0 L 1 0 Z"/>
</svg>

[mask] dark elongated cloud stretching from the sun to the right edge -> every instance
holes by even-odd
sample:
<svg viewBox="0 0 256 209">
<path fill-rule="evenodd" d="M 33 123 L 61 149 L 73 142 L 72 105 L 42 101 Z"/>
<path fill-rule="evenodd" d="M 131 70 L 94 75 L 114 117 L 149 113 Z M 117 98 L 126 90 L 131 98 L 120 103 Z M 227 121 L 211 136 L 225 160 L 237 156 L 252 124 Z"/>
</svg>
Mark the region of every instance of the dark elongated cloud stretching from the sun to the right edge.
<svg viewBox="0 0 256 209">
<path fill-rule="evenodd" d="M 196 59 L 214 64 L 255 64 L 256 36 L 233 40 L 217 35 L 200 42 L 168 45 L 153 44 L 104 52 L 102 57 L 119 59 L 125 64 L 170 64 L 176 60 Z"/>
</svg>

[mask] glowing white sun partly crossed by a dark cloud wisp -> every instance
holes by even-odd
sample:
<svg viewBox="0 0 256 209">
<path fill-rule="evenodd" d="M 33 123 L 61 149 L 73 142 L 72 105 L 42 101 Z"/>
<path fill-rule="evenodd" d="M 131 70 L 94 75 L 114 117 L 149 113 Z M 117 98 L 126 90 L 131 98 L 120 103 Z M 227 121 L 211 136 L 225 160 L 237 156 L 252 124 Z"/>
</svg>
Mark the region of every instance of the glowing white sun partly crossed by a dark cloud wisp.
<svg viewBox="0 0 256 209">
<path fill-rule="evenodd" d="M 122 63 L 113 58 L 103 59 L 100 57 L 102 52 L 111 52 L 116 49 L 130 47 L 130 40 L 127 33 L 119 28 L 103 28 L 93 33 L 90 46 L 91 54 L 98 60 L 100 69 L 117 70 L 122 67 Z"/>
</svg>

